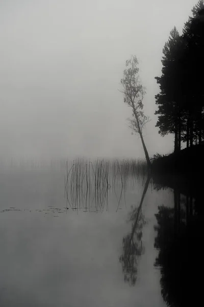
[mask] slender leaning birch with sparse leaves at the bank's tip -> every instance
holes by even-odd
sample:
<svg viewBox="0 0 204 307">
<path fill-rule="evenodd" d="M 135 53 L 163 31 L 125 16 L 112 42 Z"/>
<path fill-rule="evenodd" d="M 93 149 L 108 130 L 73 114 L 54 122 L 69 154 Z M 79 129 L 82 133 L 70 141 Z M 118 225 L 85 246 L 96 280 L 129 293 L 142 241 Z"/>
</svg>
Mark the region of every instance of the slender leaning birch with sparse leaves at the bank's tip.
<svg viewBox="0 0 204 307">
<path fill-rule="evenodd" d="M 142 135 L 142 128 L 149 121 L 149 117 L 145 116 L 143 111 L 143 97 L 146 92 L 144 90 L 143 85 L 139 81 L 139 68 L 137 57 L 132 56 L 131 59 L 126 60 L 125 66 L 126 69 L 124 70 L 123 78 L 120 81 L 123 90 L 120 92 L 124 95 L 124 103 L 126 103 L 132 108 L 133 118 L 129 119 L 129 127 L 134 133 L 139 134 L 140 139 L 142 141 L 147 165 L 150 168 L 151 162 Z"/>
</svg>

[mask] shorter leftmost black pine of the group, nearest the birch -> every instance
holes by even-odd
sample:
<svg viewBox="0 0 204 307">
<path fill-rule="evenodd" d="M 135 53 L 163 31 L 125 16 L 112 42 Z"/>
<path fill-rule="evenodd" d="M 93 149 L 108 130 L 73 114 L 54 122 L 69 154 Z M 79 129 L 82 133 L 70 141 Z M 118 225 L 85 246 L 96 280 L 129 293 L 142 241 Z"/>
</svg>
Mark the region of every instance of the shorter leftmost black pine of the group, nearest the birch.
<svg viewBox="0 0 204 307">
<path fill-rule="evenodd" d="M 157 83 L 160 84 L 160 93 L 155 96 L 156 104 L 159 105 L 155 112 L 156 115 L 159 115 L 156 126 L 160 128 L 159 133 L 162 136 L 169 133 L 174 134 L 174 151 L 181 149 L 183 50 L 184 41 L 174 27 L 163 48 L 162 76 L 155 77 Z"/>
</svg>

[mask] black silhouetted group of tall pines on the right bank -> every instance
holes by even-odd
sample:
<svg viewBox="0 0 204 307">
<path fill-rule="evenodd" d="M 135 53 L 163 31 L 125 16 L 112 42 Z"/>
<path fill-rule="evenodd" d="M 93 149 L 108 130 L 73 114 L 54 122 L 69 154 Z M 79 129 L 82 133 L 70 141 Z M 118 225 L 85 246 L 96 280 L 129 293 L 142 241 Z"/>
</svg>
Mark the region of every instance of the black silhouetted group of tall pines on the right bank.
<svg viewBox="0 0 204 307">
<path fill-rule="evenodd" d="M 162 136 L 174 134 L 174 152 L 204 140 L 204 2 L 199 0 L 182 35 L 170 31 L 163 48 L 162 76 L 155 77 L 160 93 L 155 96 L 159 115 L 156 126 Z"/>
</svg>

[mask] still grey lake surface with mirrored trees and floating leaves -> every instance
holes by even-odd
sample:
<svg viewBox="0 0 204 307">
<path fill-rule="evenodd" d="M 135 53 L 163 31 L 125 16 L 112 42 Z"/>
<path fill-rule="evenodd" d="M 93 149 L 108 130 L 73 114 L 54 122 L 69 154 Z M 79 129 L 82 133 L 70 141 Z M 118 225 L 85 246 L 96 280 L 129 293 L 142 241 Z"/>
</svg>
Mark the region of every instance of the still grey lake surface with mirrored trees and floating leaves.
<svg viewBox="0 0 204 307">
<path fill-rule="evenodd" d="M 202 237 L 192 195 L 145 176 L 127 176 L 125 184 L 114 179 L 113 188 L 110 176 L 103 195 L 103 187 L 99 196 L 94 189 L 77 196 L 72 188 L 74 196 L 71 189 L 65 193 L 65 173 L 1 171 L 2 307 L 163 307 L 195 301 L 190 271 Z M 189 287 L 192 293 L 184 299 Z"/>
</svg>

